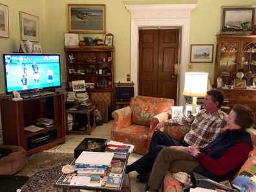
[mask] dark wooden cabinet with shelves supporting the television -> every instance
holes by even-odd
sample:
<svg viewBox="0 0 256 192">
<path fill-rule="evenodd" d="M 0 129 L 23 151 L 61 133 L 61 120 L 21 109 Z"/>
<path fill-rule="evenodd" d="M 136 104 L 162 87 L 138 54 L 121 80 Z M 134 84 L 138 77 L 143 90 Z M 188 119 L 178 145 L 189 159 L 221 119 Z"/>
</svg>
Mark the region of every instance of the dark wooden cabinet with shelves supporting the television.
<svg viewBox="0 0 256 192">
<path fill-rule="evenodd" d="M 53 94 L 36 98 L 13 101 L 1 98 L 1 120 L 4 145 L 19 145 L 27 150 L 27 155 L 38 153 L 57 144 L 65 143 L 65 110 L 63 94 Z M 37 118 L 50 118 L 54 124 L 36 132 L 24 128 L 36 123 Z M 44 142 L 31 143 L 49 135 Z"/>
</svg>

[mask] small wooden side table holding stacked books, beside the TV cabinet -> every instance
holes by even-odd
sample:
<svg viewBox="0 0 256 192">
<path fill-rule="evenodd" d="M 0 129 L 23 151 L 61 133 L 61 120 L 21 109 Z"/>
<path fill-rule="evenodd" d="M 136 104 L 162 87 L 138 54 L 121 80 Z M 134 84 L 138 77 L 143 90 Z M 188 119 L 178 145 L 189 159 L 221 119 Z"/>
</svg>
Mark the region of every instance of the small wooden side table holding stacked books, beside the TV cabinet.
<svg viewBox="0 0 256 192">
<path fill-rule="evenodd" d="M 66 110 L 66 123 L 67 123 L 67 129 L 66 129 L 66 134 L 91 134 L 92 130 L 95 129 L 96 127 L 96 118 L 95 118 L 95 106 L 92 105 L 88 109 L 85 110 Z M 68 120 L 68 114 L 72 114 L 73 116 L 73 123 L 74 126 L 77 126 L 78 123 L 76 122 L 76 114 L 85 114 L 85 117 L 87 116 L 87 124 L 83 124 L 86 126 L 86 129 L 83 131 L 75 131 L 71 130 L 69 131 L 69 120 Z M 93 114 L 93 125 L 91 125 L 91 114 Z"/>
</svg>

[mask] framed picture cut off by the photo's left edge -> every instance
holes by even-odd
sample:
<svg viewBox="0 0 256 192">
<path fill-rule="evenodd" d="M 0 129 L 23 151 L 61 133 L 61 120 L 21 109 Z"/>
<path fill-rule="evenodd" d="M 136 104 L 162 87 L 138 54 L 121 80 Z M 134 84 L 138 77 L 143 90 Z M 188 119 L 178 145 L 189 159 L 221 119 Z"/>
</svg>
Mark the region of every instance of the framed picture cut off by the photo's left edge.
<svg viewBox="0 0 256 192">
<path fill-rule="evenodd" d="M 9 10 L 7 5 L 0 3 L 0 37 L 10 37 Z"/>
</svg>

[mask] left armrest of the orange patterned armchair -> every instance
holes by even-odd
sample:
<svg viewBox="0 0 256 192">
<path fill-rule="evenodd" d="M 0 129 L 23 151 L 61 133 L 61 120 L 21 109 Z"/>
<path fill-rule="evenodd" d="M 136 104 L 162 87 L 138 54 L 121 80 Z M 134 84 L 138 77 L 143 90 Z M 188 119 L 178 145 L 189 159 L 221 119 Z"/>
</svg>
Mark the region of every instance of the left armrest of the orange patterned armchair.
<svg viewBox="0 0 256 192">
<path fill-rule="evenodd" d="M 123 107 L 112 112 L 112 118 L 114 118 L 114 123 L 112 125 L 112 130 L 118 129 L 120 127 L 128 127 L 131 125 L 132 112 L 131 107 Z"/>
</svg>

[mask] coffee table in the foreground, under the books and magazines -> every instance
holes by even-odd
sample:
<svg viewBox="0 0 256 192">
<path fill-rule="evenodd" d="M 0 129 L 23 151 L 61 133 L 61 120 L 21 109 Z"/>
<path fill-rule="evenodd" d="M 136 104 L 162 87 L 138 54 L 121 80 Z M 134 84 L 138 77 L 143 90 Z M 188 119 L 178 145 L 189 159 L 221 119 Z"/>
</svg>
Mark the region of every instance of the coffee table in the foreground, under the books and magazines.
<svg viewBox="0 0 256 192">
<path fill-rule="evenodd" d="M 91 186 L 70 186 L 70 184 L 68 182 L 63 182 L 63 180 L 65 180 L 65 178 L 67 178 L 67 174 L 62 174 L 59 179 L 57 180 L 57 182 L 54 184 L 55 187 L 59 187 L 63 189 L 63 192 L 65 191 L 69 191 L 70 189 L 86 189 L 86 190 L 92 190 L 92 191 L 123 191 L 123 192 L 131 192 L 131 184 L 129 182 L 129 175 L 125 174 L 125 168 L 127 166 L 127 160 L 128 158 L 123 161 L 121 163 L 121 167 L 122 167 L 122 182 L 120 184 L 120 186 L 117 187 L 105 187 L 105 186 L 101 186 L 101 187 L 91 187 Z M 70 165 L 74 165 L 76 161 L 76 158 L 74 158 L 74 160 L 72 160 L 72 162 L 70 163 Z M 75 174 L 73 174 L 75 175 Z M 109 175 L 109 173 L 107 174 Z M 123 182 L 125 178 L 125 182 Z"/>
</svg>

